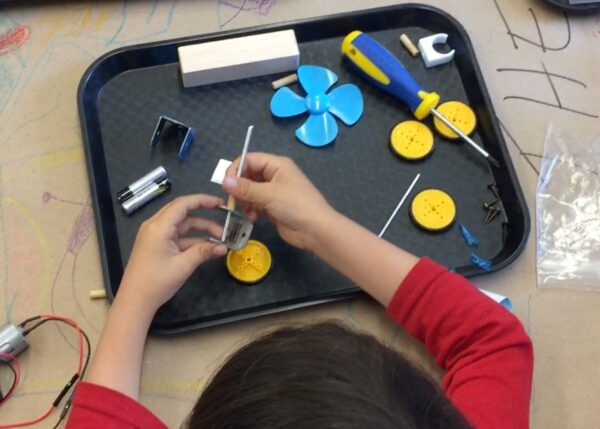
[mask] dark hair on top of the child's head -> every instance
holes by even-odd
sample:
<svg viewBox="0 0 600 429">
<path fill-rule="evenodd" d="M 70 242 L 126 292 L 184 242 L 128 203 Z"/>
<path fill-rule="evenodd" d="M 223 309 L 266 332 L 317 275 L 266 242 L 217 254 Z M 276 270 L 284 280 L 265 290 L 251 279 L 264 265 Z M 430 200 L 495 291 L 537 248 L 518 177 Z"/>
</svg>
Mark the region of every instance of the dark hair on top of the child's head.
<svg viewBox="0 0 600 429">
<path fill-rule="evenodd" d="M 189 429 L 469 428 L 423 371 L 337 323 L 278 329 L 235 352 Z"/>
</svg>

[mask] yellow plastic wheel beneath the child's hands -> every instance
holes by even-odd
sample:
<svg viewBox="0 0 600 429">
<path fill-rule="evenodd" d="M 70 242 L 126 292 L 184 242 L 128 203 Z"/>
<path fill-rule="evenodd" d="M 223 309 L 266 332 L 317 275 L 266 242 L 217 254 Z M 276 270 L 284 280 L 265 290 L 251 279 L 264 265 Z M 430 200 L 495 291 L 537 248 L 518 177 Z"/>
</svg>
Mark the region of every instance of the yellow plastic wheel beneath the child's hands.
<svg viewBox="0 0 600 429">
<path fill-rule="evenodd" d="M 241 283 L 258 283 L 264 279 L 273 259 L 269 248 L 257 240 L 248 240 L 243 249 L 230 250 L 225 264 L 229 274 Z"/>
</svg>

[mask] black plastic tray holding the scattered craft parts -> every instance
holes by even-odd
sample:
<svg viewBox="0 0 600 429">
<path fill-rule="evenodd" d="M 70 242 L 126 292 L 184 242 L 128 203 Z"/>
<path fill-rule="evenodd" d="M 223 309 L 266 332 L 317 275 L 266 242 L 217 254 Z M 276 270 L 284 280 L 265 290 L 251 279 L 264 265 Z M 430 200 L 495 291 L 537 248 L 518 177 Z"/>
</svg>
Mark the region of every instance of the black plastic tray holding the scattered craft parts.
<svg viewBox="0 0 600 429">
<path fill-rule="evenodd" d="M 352 128 L 340 124 L 333 145 L 315 150 L 294 138 L 304 118 L 272 118 L 270 82 L 265 76 L 237 82 L 184 89 L 178 70 L 177 47 L 209 40 L 293 28 L 300 44 L 301 63 L 334 70 L 339 84 L 354 82 L 363 91 L 365 112 Z M 424 162 L 407 163 L 388 147 L 391 128 L 412 117 L 402 103 L 366 84 L 340 56 L 347 33 L 361 29 L 398 55 L 426 90 L 445 100 L 462 100 L 476 111 L 475 140 L 500 161 L 490 170 L 473 150 L 436 137 L 436 149 Z M 413 40 L 433 33 L 449 34 L 456 49 L 453 62 L 426 70 L 400 46 L 399 35 Z M 298 88 L 295 88 L 298 90 Z M 315 20 L 269 25 L 138 45 L 110 52 L 85 72 L 78 93 L 92 197 L 105 285 L 110 299 L 142 221 L 179 195 L 222 194 L 209 182 L 219 158 L 233 159 L 241 150 L 246 127 L 255 125 L 252 150 L 292 157 L 341 212 L 378 233 L 416 173 L 419 190 L 436 187 L 456 200 L 458 222 L 480 239 L 477 253 L 493 259 L 493 269 L 510 264 L 522 251 L 529 217 L 506 145 L 499 130 L 483 77 L 465 30 L 444 12 L 429 6 L 405 4 Z M 149 142 L 159 115 L 166 114 L 196 128 L 187 158 L 177 148 Z M 131 217 L 123 215 L 116 193 L 152 168 L 164 165 L 172 191 Z M 503 218 L 484 226 L 482 203 L 493 199 L 486 188 L 496 182 L 504 202 Z M 385 238 L 420 255 L 430 256 L 466 275 L 483 274 L 469 264 L 470 250 L 454 225 L 428 234 L 412 225 L 407 203 Z M 458 223 L 457 222 L 457 223 Z M 314 256 L 283 243 L 276 231 L 259 221 L 253 237 L 271 249 L 274 266 L 255 286 L 242 286 L 229 277 L 222 260 L 206 264 L 157 313 L 152 331 L 174 333 L 291 308 L 347 298 L 359 293 L 342 276 Z"/>
</svg>

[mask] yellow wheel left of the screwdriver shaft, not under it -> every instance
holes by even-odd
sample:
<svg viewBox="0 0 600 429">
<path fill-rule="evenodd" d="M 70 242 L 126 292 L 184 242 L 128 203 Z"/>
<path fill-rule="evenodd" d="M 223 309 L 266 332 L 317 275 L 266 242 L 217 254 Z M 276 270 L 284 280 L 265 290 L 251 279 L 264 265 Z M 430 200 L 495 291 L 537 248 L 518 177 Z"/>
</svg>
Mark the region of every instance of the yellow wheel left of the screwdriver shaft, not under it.
<svg viewBox="0 0 600 429">
<path fill-rule="evenodd" d="M 433 133 L 422 122 L 400 122 L 390 134 L 390 145 L 398 156 L 417 161 L 433 151 Z"/>
</svg>

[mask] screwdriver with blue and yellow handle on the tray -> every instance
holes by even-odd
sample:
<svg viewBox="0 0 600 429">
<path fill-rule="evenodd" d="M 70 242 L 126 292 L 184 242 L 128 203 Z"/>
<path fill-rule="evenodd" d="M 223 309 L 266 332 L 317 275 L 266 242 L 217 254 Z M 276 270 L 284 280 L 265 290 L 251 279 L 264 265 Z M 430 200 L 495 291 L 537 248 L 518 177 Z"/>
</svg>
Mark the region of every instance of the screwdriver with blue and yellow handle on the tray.
<svg viewBox="0 0 600 429">
<path fill-rule="evenodd" d="M 500 167 L 494 157 L 436 110 L 440 96 L 435 92 L 425 92 L 400 60 L 375 39 L 361 31 L 353 31 L 342 42 L 342 54 L 369 82 L 406 103 L 418 120 L 433 114 L 490 164 Z"/>
</svg>

